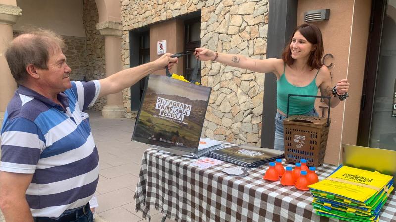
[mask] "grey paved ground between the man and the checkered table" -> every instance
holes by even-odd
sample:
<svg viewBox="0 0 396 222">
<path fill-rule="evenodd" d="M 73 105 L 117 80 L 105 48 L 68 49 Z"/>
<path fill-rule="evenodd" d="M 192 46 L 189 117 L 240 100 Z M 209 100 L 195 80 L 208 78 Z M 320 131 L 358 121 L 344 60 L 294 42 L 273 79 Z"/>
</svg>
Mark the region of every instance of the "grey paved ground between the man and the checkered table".
<svg viewBox="0 0 396 222">
<path fill-rule="evenodd" d="M 142 154 L 148 146 L 131 141 L 133 120 L 104 119 L 99 112 L 88 113 L 100 159 L 95 222 L 146 221 L 140 212 L 135 212 L 133 195 Z M 151 222 L 160 222 L 162 215 L 153 209 L 151 219 Z M 0 222 L 3 222 L 1 212 Z"/>
</svg>

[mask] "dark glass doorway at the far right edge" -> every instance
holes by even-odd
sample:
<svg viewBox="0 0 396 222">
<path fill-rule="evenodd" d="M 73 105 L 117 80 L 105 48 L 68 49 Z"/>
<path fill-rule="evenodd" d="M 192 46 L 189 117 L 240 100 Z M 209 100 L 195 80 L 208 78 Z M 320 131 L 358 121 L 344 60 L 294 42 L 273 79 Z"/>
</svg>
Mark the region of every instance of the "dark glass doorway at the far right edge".
<svg viewBox="0 0 396 222">
<path fill-rule="evenodd" d="M 373 0 L 357 144 L 396 150 L 396 0 Z"/>
</svg>

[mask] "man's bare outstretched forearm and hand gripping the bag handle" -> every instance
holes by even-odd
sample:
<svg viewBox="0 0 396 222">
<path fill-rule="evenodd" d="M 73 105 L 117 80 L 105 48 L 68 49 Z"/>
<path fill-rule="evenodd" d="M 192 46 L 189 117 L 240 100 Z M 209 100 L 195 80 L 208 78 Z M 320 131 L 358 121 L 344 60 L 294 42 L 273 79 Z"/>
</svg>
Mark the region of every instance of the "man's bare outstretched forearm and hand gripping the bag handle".
<svg viewBox="0 0 396 222">
<path fill-rule="evenodd" d="M 120 92 L 121 90 L 134 85 L 140 79 L 150 74 L 151 72 L 159 69 L 165 69 L 172 67 L 177 58 L 170 58 L 172 54 L 166 53 L 157 60 L 149 62 L 140 66 L 125 69 L 115 74 L 110 75 L 107 78 L 100 79 L 100 93 L 99 97 L 105 96 L 112 93 Z"/>
</svg>

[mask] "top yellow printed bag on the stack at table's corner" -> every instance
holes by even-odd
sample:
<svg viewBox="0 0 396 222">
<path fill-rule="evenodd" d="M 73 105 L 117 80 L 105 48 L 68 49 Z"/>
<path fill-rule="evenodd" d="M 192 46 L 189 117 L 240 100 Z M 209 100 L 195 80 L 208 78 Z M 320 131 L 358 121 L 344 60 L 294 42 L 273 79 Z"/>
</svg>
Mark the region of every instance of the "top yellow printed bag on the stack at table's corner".
<svg viewBox="0 0 396 222">
<path fill-rule="evenodd" d="M 381 191 L 390 180 L 392 176 L 389 175 L 342 166 L 326 179 L 308 187 L 365 202 Z"/>
</svg>

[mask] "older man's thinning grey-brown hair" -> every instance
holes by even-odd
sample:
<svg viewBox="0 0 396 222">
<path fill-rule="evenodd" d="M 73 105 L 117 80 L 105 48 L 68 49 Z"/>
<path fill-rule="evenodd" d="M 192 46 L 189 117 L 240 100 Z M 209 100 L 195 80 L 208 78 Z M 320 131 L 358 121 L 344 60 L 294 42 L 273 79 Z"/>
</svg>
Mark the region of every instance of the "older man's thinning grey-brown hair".
<svg viewBox="0 0 396 222">
<path fill-rule="evenodd" d="M 63 49 L 62 37 L 50 30 L 36 28 L 16 37 L 5 52 L 11 74 L 17 83 L 23 83 L 28 76 L 29 64 L 39 69 L 48 69 L 50 51 Z"/>
</svg>

